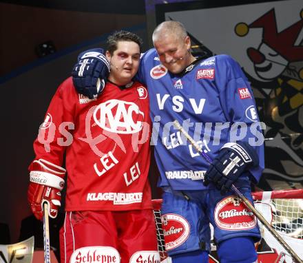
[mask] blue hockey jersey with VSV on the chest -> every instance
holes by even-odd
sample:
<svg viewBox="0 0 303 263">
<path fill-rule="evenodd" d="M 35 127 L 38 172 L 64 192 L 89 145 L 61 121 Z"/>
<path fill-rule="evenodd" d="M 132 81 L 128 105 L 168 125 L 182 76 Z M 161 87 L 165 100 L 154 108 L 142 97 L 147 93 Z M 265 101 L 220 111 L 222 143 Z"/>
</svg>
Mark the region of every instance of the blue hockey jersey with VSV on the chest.
<svg viewBox="0 0 303 263">
<path fill-rule="evenodd" d="M 151 49 L 143 54 L 137 76 L 149 89 L 158 186 L 207 189 L 202 180 L 209 163 L 174 127 L 174 120 L 212 159 L 225 143 L 243 140 L 255 145 L 260 165 L 249 172 L 259 180 L 264 169 L 262 125 L 249 82 L 236 61 L 227 55 L 212 56 L 197 60 L 181 74 L 171 74 Z"/>
</svg>

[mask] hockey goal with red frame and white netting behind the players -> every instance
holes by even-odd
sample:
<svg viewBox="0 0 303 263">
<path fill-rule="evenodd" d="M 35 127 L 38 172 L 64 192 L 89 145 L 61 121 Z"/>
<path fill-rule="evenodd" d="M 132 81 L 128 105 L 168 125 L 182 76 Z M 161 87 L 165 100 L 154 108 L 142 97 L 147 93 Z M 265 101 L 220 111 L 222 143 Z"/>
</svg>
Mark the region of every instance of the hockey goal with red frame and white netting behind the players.
<svg viewBox="0 0 303 263">
<path fill-rule="evenodd" d="M 255 208 L 271 223 L 291 248 L 303 258 L 303 189 L 260 191 L 253 193 Z M 164 233 L 161 222 L 162 200 L 153 200 L 154 216 L 161 262 L 171 262 L 165 252 Z M 262 240 L 256 244 L 258 262 L 293 262 L 282 245 L 259 222 Z M 209 262 L 219 262 L 216 245 L 212 242 Z"/>
</svg>

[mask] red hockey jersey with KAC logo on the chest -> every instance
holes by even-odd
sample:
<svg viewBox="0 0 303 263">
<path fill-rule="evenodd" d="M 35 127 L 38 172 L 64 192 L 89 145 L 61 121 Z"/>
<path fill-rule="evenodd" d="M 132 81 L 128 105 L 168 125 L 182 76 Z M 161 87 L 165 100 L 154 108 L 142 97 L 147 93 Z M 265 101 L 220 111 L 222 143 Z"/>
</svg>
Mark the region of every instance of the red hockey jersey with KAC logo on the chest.
<svg viewBox="0 0 303 263">
<path fill-rule="evenodd" d="M 66 211 L 151 209 L 150 135 L 143 85 L 107 83 L 102 96 L 89 99 L 67 78 L 34 141 L 35 160 L 62 166 L 66 153 Z"/>
</svg>

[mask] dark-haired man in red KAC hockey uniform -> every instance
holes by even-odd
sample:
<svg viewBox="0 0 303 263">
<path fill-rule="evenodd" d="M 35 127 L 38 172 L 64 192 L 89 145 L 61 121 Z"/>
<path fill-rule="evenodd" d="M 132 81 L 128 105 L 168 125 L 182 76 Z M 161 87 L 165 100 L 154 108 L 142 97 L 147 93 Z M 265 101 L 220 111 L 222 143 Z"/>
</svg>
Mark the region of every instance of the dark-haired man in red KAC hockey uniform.
<svg viewBox="0 0 303 263">
<path fill-rule="evenodd" d="M 106 58 L 98 57 L 110 69 L 106 85 L 98 80 L 103 96 L 83 96 L 67 78 L 34 141 L 28 201 L 38 219 L 43 202 L 52 218 L 58 213 L 66 154 L 61 262 L 160 262 L 147 179 L 149 101 L 147 89 L 132 81 L 141 43 L 131 32 L 109 36 Z M 83 56 L 81 67 L 87 70 L 92 56 Z"/>
</svg>

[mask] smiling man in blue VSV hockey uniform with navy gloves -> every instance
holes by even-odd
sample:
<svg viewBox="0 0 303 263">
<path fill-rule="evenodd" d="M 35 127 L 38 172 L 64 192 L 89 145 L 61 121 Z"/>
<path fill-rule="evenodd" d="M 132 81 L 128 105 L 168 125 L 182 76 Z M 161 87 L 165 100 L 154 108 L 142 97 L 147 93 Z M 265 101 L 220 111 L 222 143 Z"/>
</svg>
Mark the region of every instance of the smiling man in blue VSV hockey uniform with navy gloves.
<svg viewBox="0 0 303 263">
<path fill-rule="evenodd" d="M 182 23 L 161 23 L 153 42 L 136 79 L 149 89 L 167 253 L 174 263 L 208 262 L 211 223 L 220 262 L 256 262 L 258 223 L 231 191 L 236 185 L 252 202 L 251 182 L 264 169 L 262 127 L 249 82 L 230 56 L 195 58 Z M 74 85 L 90 98 L 102 96 L 102 54 L 85 54 L 74 67 Z M 211 164 L 186 142 L 174 120 Z"/>
</svg>

